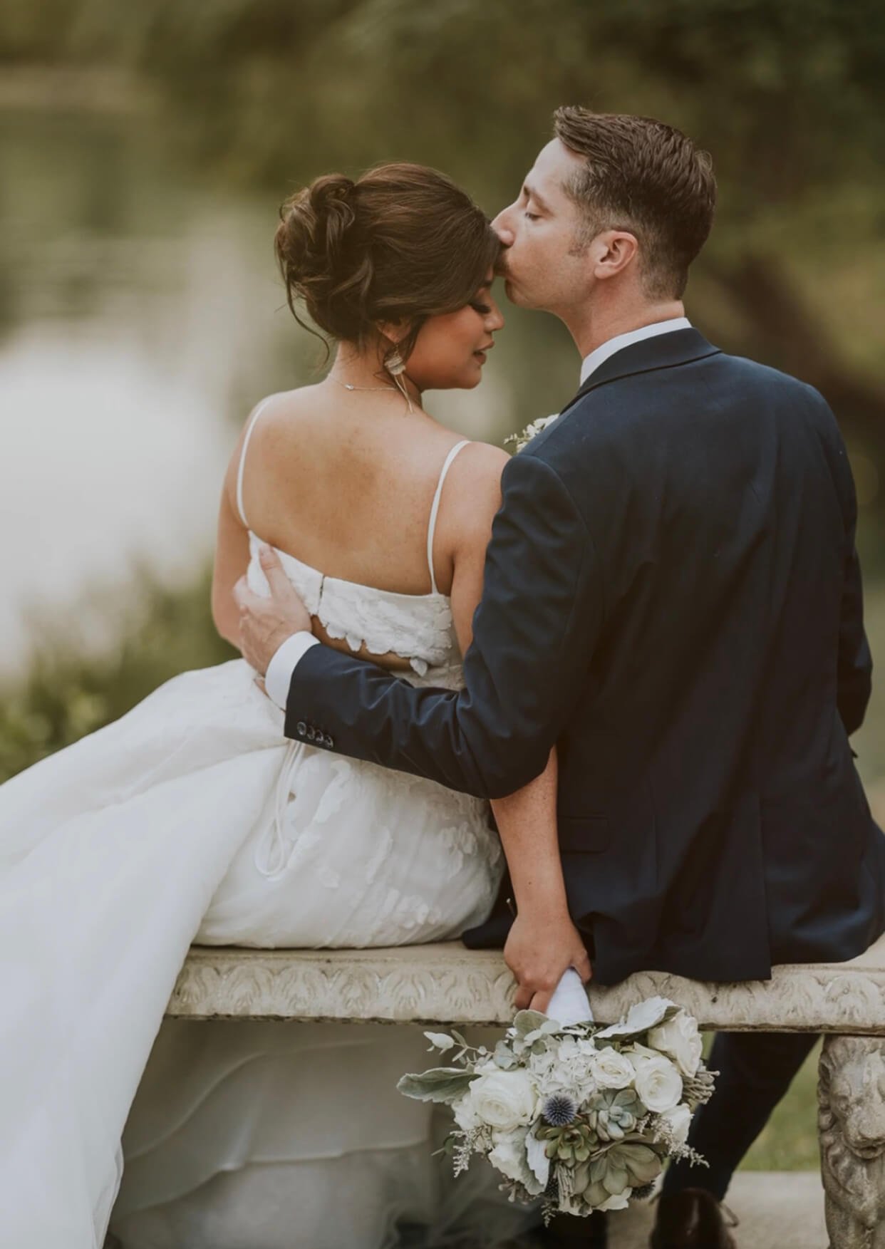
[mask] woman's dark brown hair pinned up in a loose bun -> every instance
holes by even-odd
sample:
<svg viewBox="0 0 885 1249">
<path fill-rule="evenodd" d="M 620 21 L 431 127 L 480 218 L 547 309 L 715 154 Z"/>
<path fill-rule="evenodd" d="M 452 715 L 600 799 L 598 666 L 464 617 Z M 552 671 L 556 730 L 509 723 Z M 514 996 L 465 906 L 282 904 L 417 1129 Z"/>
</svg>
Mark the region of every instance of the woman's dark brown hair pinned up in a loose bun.
<svg viewBox="0 0 885 1249">
<path fill-rule="evenodd" d="M 274 247 L 299 325 L 302 301 L 320 330 L 362 348 L 379 323 L 405 321 L 399 353 L 408 360 L 428 317 L 474 299 L 500 242 L 445 174 L 398 164 L 358 181 L 318 177 L 280 209 Z"/>
</svg>

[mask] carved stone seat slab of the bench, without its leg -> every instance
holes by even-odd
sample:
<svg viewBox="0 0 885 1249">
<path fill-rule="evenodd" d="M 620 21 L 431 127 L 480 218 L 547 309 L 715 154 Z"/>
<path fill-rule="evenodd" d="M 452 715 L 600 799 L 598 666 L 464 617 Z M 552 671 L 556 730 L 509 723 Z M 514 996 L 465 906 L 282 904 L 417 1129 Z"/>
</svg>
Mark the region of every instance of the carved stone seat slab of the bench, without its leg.
<svg viewBox="0 0 885 1249">
<path fill-rule="evenodd" d="M 178 1018 L 506 1024 L 512 978 L 499 950 L 460 942 L 364 950 L 194 948 L 168 1014 Z M 705 1029 L 885 1034 L 885 967 L 806 964 L 771 980 L 705 984 L 642 972 L 590 989 L 594 1014 L 612 1022 L 660 993 Z"/>
</svg>

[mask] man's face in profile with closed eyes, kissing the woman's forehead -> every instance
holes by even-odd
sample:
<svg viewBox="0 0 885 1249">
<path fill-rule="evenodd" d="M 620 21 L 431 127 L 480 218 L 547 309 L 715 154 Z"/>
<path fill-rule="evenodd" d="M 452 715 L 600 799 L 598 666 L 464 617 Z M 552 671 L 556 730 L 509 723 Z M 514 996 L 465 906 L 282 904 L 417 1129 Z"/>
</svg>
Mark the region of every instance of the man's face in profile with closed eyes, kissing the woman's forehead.
<svg viewBox="0 0 885 1249">
<path fill-rule="evenodd" d="M 581 214 L 565 190 L 582 164 L 559 139 L 551 140 L 516 200 L 492 221 L 504 244 L 499 272 L 514 304 L 562 315 L 588 299 L 592 274 L 586 247 L 579 246 Z"/>
</svg>

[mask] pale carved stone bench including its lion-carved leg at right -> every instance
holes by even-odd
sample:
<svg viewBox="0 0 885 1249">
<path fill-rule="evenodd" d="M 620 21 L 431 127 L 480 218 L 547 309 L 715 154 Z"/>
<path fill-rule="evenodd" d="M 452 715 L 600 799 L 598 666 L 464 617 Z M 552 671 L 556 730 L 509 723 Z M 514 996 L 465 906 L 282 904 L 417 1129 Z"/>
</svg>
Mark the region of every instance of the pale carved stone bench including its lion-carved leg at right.
<svg viewBox="0 0 885 1249">
<path fill-rule="evenodd" d="M 825 1034 L 819 1133 L 830 1243 L 885 1249 L 885 937 L 850 963 L 778 967 L 770 980 L 706 984 L 641 972 L 589 993 L 600 1023 L 654 994 L 685 1007 L 704 1029 Z M 358 950 L 194 947 L 168 1013 L 505 1025 L 512 997 L 501 953 L 460 942 Z"/>
</svg>

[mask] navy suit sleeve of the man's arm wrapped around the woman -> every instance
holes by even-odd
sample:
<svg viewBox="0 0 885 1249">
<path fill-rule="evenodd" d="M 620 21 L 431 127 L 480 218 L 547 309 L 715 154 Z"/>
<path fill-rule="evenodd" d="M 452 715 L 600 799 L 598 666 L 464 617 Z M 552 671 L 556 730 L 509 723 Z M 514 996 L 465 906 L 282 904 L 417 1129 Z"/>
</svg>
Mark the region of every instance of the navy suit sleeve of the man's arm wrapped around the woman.
<svg viewBox="0 0 885 1249">
<path fill-rule="evenodd" d="M 415 688 L 315 646 L 292 674 L 288 737 L 304 738 L 310 724 L 341 754 L 485 798 L 514 793 L 544 771 L 601 624 L 599 567 L 584 520 L 546 462 L 514 456 L 501 492 L 465 688 Z"/>
</svg>

